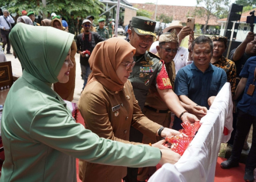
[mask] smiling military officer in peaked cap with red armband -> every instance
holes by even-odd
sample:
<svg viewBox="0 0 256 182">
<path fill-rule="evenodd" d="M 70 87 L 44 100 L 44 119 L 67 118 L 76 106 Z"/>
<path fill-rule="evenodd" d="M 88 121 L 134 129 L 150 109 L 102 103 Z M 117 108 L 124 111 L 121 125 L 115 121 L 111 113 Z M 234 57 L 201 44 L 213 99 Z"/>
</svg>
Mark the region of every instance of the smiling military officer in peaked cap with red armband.
<svg viewBox="0 0 256 182">
<path fill-rule="evenodd" d="M 130 44 L 136 48 L 136 53 L 133 56 L 136 63 L 128 79 L 132 83 L 139 106 L 143 110 L 149 88 L 157 86 L 157 93 L 161 99 L 183 122 L 199 121 L 195 115 L 189 114 L 181 106 L 178 96 L 172 90 L 164 62 L 158 56 L 147 51 L 153 43 L 153 37 L 156 37 L 155 24 L 155 21 L 147 17 L 135 16 L 132 17 L 131 27 L 128 29 Z M 165 127 L 162 127 L 159 130 L 159 136 L 164 129 Z M 131 127 L 129 139 L 134 142 L 142 142 L 142 134 Z M 137 172 L 134 171 L 134 168 L 127 170 L 127 177 L 124 180 L 125 182 L 137 180 Z"/>
</svg>

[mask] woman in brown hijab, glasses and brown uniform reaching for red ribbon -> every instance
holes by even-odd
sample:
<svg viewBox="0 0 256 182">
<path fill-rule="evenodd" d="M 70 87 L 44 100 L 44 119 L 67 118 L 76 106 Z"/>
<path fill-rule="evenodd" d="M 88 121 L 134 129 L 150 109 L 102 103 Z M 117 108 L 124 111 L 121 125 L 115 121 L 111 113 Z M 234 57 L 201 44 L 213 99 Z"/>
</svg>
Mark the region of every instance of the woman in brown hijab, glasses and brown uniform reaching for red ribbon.
<svg viewBox="0 0 256 182">
<path fill-rule="evenodd" d="M 131 125 L 151 138 L 158 133 L 162 137 L 178 134 L 169 128 L 161 132 L 161 125 L 149 120 L 140 110 L 128 81 L 135 64 L 134 54 L 135 48 L 117 37 L 100 42 L 94 48 L 89 59 L 92 72 L 78 103 L 86 128 L 99 137 L 135 145 L 141 143 L 129 142 Z M 162 148 L 162 143 L 153 146 Z M 180 155 L 172 154 L 172 163 L 175 163 Z M 79 163 L 79 177 L 86 182 L 121 182 L 126 173 L 127 168 L 122 166 Z"/>
</svg>

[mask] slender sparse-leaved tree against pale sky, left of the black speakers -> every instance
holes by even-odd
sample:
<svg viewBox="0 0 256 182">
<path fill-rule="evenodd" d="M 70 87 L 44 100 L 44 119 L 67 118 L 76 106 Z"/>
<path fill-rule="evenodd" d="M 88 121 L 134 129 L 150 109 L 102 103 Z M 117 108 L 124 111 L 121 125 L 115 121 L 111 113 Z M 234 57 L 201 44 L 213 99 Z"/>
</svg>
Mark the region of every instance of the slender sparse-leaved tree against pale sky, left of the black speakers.
<svg viewBox="0 0 256 182">
<path fill-rule="evenodd" d="M 199 17 L 204 17 L 204 32 L 206 31 L 206 27 L 208 21 L 212 16 L 217 16 L 218 18 L 227 17 L 229 11 L 229 0 L 196 0 L 197 5 L 200 3 L 204 4 L 204 8 L 197 7 L 196 15 Z"/>
</svg>

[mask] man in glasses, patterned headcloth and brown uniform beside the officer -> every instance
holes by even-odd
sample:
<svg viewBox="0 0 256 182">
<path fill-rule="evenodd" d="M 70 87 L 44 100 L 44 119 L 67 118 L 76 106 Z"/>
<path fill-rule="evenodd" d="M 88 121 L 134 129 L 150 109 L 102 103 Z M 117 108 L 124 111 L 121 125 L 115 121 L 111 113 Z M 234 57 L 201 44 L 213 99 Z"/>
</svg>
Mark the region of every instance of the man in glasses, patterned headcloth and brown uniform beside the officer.
<svg viewBox="0 0 256 182">
<path fill-rule="evenodd" d="M 157 46 L 157 56 L 165 62 L 165 68 L 174 90 L 175 81 L 175 63 L 173 61 L 178 51 L 179 38 L 176 31 L 172 33 L 166 32 L 159 36 L 159 46 Z M 174 120 L 174 114 L 166 106 L 165 102 L 157 93 L 157 88 L 151 86 L 146 97 L 143 113 L 145 116 L 153 120 L 155 123 L 161 124 L 164 127 L 171 127 L 171 120 Z M 172 119 L 171 119 L 172 118 Z M 160 139 L 160 138 L 158 138 Z M 142 143 L 155 143 L 156 138 L 153 140 L 147 135 L 143 135 Z M 138 181 L 146 181 L 148 176 L 151 176 L 156 171 L 155 166 L 139 168 Z"/>
</svg>

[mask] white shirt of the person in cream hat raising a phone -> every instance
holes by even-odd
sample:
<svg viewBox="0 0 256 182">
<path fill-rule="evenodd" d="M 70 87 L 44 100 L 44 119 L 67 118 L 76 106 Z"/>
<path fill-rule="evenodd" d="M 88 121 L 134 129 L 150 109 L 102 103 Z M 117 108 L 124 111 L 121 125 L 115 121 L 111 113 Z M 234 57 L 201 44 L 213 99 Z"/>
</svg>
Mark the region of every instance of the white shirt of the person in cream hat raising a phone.
<svg viewBox="0 0 256 182">
<path fill-rule="evenodd" d="M 185 47 L 179 47 L 178 52 L 173 59 L 175 63 L 175 72 L 177 75 L 177 72 L 180 70 L 180 68 L 183 68 L 184 66 L 187 66 L 188 64 L 191 64 L 193 61 L 188 61 L 188 48 Z"/>
</svg>

